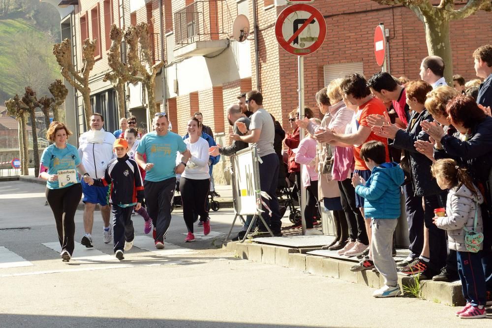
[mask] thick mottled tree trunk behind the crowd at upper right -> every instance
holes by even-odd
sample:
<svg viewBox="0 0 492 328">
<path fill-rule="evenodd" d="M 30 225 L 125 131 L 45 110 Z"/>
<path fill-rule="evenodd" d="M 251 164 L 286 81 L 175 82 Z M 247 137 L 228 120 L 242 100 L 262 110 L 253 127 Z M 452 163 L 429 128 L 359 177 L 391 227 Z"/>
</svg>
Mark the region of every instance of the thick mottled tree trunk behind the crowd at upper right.
<svg viewBox="0 0 492 328">
<path fill-rule="evenodd" d="M 439 56 L 444 60 L 444 78 L 449 85 L 453 85 L 453 53 L 449 40 L 449 20 L 439 10 L 433 16 L 424 16 L 426 41 L 429 56 Z"/>
</svg>

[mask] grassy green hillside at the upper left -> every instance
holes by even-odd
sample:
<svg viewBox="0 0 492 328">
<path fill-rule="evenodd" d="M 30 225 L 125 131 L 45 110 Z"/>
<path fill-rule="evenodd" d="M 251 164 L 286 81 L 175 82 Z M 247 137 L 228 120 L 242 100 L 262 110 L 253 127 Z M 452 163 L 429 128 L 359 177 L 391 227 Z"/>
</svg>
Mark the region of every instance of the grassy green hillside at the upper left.
<svg viewBox="0 0 492 328">
<path fill-rule="evenodd" d="M 52 44 L 53 41 L 49 35 L 37 30 L 21 18 L 0 20 L 1 104 L 15 93 L 23 93 L 26 83 L 33 84 L 33 88 L 40 89 L 38 95 L 45 94 L 47 86 L 52 81 L 51 78 L 60 77 L 56 60 L 49 53 Z M 29 62 L 26 63 L 26 60 Z M 44 82 L 45 78 L 41 75 L 43 68 L 49 72 L 48 75 L 51 75 L 46 78 L 46 89 L 44 83 L 37 83 L 35 86 L 34 82 L 26 82 L 36 78 Z"/>
</svg>

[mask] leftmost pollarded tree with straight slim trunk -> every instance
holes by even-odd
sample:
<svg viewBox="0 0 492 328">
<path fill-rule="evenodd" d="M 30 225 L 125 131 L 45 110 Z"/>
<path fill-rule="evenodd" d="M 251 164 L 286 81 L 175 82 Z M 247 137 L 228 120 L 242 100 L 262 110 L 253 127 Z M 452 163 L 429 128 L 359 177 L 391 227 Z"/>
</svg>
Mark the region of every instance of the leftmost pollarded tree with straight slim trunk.
<svg viewBox="0 0 492 328">
<path fill-rule="evenodd" d="M 29 175 L 29 138 L 27 115 L 29 108 L 20 99 L 19 95 L 5 101 L 7 114 L 15 117 L 19 122 L 19 152 L 21 159 L 21 175 Z"/>
</svg>

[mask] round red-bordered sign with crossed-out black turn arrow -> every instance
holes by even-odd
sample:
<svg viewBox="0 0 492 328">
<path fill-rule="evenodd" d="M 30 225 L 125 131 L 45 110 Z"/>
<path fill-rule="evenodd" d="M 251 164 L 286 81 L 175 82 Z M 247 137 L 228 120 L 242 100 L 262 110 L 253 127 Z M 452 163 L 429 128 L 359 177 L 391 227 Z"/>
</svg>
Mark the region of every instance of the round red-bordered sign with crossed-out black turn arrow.
<svg viewBox="0 0 492 328">
<path fill-rule="evenodd" d="M 312 54 L 325 40 L 325 18 L 313 6 L 293 4 L 278 15 L 275 36 L 278 44 L 289 54 Z"/>
</svg>

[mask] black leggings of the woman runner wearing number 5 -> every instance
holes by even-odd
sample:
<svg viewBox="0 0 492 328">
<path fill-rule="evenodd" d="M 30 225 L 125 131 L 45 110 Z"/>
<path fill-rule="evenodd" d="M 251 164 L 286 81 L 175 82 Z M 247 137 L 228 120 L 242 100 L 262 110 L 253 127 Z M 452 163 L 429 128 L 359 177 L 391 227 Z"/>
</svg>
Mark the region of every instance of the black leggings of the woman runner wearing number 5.
<svg viewBox="0 0 492 328">
<path fill-rule="evenodd" d="M 46 200 L 50 205 L 55 223 L 57 225 L 58 240 L 62 250 L 67 250 L 73 255 L 73 236 L 75 235 L 75 223 L 73 217 L 82 198 L 82 185 L 72 184 L 61 189 L 46 188 Z"/>
</svg>

